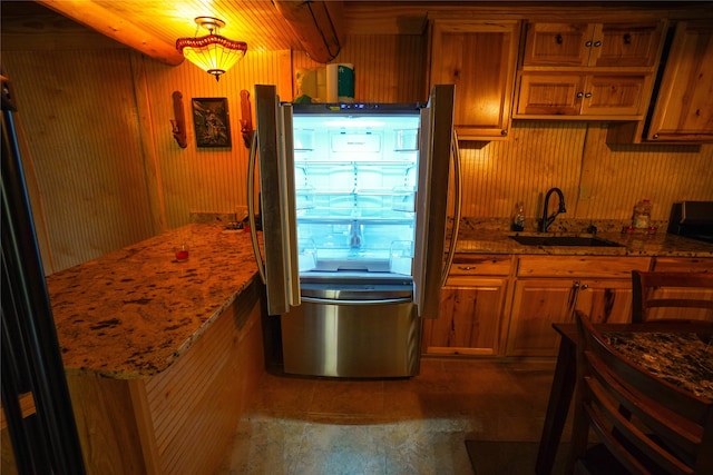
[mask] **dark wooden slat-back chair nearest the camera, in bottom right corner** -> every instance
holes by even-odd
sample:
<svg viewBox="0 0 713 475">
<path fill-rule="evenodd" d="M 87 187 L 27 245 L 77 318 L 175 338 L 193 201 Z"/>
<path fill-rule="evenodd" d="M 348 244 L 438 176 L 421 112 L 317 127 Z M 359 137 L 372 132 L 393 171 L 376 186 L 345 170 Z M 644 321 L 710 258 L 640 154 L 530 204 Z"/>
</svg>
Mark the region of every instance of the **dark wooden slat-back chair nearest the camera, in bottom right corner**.
<svg viewBox="0 0 713 475">
<path fill-rule="evenodd" d="M 713 474 L 713 402 L 654 376 L 577 313 L 575 474 Z M 589 434 L 598 443 L 589 443 Z"/>
</svg>

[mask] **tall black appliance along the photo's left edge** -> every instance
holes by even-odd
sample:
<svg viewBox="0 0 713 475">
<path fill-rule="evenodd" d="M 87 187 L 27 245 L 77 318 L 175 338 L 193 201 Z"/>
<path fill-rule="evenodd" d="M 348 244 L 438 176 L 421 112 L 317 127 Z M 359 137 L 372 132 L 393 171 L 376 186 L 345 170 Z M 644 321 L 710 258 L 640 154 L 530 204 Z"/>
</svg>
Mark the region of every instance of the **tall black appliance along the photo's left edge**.
<svg viewBox="0 0 713 475">
<path fill-rule="evenodd" d="M 2 80 L 2 410 L 20 474 L 86 473 L 14 133 L 17 110 Z M 20 400 L 33 400 L 23 414 Z M 3 454 L 4 455 L 4 454 Z"/>
</svg>

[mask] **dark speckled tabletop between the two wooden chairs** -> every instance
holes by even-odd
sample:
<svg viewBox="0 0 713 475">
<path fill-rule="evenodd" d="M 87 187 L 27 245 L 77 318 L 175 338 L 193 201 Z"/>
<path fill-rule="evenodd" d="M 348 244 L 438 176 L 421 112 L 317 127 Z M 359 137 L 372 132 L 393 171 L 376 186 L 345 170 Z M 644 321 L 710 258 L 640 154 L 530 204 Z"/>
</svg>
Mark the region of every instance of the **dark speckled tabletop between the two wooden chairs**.
<svg viewBox="0 0 713 475">
<path fill-rule="evenodd" d="M 608 333 L 604 337 L 651 373 L 713 400 L 713 334 Z"/>
</svg>

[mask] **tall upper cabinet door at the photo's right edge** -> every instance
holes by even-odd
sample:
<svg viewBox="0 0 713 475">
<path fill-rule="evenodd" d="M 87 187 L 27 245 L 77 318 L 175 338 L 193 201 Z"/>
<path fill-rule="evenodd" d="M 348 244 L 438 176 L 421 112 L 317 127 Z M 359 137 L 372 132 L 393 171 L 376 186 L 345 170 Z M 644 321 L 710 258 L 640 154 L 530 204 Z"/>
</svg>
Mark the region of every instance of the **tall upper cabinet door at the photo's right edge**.
<svg viewBox="0 0 713 475">
<path fill-rule="evenodd" d="M 647 139 L 713 141 L 713 22 L 682 21 L 671 46 Z"/>
</svg>

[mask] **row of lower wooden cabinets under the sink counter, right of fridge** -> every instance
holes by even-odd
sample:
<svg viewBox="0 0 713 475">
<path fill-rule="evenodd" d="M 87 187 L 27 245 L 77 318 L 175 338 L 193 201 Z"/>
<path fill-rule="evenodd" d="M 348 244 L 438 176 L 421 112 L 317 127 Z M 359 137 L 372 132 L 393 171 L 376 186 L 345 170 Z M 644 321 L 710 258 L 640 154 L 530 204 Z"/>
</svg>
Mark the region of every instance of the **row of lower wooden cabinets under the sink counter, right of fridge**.
<svg viewBox="0 0 713 475">
<path fill-rule="evenodd" d="M 632 270 L 649 269 L 713 273 L 713 258 L 458 254 L 440 317 L 423 320 L 422 353 L 556 356 L 553 324 L 573 323 L 575 310 L 631 321 Z"/>
</svg>

